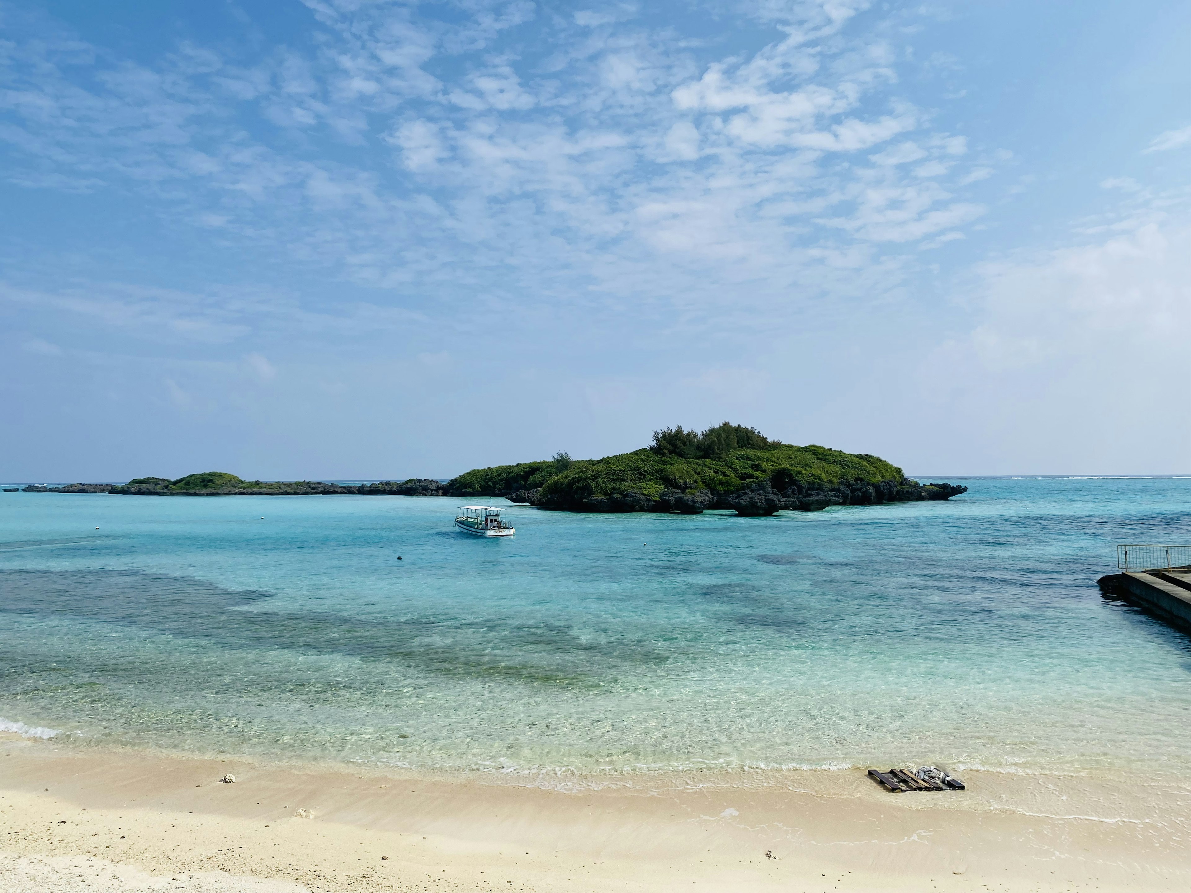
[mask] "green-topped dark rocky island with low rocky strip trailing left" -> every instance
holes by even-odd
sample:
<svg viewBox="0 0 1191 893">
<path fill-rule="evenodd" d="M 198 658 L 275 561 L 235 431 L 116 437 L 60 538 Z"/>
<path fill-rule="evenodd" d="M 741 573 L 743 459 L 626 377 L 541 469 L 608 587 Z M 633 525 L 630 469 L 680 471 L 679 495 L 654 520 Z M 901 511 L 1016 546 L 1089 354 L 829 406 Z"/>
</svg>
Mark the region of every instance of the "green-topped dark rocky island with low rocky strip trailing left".
<svg viewBox="0 0 1191 893">
<path fill-rule="evenodd" d="M 748 517 L 782 510 L 813 512 L 837 505 L 944 500 L 966 493 L 953 483 L 919 483 L 883 458 L 825 447 L 793 447 L 752 427 L 723 423 L 706 431 L 681 426 L 654 432 L 650 447 L 597 460 L 550 460 L 476 468 L 443 483 L 426 477 L 378 483 L 244 481 L 225 472 L 177 480 L 137 477 L 125 485 L 25 487 L 49 493 L 152 497 L 392 494 L 504 497 L 566 512 L 676 512 L 732 510 Z"/>
</svg>

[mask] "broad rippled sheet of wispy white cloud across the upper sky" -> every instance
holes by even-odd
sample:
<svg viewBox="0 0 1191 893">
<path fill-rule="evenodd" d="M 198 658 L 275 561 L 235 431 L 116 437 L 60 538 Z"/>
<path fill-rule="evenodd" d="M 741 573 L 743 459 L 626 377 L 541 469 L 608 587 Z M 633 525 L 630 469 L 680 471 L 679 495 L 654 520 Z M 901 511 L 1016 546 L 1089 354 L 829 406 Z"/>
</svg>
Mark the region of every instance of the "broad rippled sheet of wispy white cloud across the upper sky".
<svg viewBox="0 0 1191 893">
<path fill-rule="evenodd" d="M 524 307 L 590 287 L 659 296 L 663 281 L 709 311 L 738 304 L 730 264 L 748 258 L 766 283 L 748 301 L 782 313 L 792 289 L 834 287 L 823 258 L 841 238 L 912 246 L 979 213 L 955 189 L 990 168 L 958 163 L 962 138 L 899 95 L 894 48 L 835 39 L 866 4 L 765 4 L 773 39 L 731 56 L 628 5 L 568 19 L 478 1 L 449 27 L 405 5 L 306 6 L 310 42 L 255 57 L 191 42 L 137 63 L 15 33 L 7 176 L 138 191 L 173 225 L 424 311 L 481 283 Z M 879 186 L 866 157 L 850 174 L 834 161 L 858 152 Z"/>
</svg>

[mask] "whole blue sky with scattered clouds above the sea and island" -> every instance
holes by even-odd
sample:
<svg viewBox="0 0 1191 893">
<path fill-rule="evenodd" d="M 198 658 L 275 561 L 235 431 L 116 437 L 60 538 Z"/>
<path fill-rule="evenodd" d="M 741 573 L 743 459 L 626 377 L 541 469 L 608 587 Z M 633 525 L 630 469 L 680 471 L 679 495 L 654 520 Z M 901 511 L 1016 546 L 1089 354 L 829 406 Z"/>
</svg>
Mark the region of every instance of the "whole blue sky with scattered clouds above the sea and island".
<svg viewBox="0 0 1191 893">
<path fill-rule="evenodd" d="M 0 0 L 0 480 L 1178 474 L 1189 382 L 1191 4 Z"/>
</svg>

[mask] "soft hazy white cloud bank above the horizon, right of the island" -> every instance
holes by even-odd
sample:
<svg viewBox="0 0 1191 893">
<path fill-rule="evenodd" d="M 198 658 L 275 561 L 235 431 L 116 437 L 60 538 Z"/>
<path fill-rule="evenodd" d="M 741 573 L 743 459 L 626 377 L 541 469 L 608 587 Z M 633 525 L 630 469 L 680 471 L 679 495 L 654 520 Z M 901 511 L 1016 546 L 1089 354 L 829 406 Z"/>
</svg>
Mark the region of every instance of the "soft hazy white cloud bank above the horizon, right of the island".
<svg viewBox="0 0 1191 893">
<path fill-rule="evenodd" d="M 975 438 L 981 466 L 1191 468 L 1191 417 L 1174 410 L 1191 381 L 1191 219 L 1151 214 L 1122 226 L 984 264 L 974 325 L 923 363 L 923 399 Z M 1160 437 L 1145 419 L 1160 420 Z"/>
</svg>

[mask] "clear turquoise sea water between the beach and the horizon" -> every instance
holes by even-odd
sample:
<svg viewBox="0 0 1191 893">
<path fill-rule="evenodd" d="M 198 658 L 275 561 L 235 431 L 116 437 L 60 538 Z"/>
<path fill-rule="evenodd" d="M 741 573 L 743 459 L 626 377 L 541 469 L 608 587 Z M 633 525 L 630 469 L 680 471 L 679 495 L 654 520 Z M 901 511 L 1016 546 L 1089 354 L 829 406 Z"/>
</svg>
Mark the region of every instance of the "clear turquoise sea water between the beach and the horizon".
<svg viewBox="0 0 1191 893">
<path fill-rule="evenodd" d="M 1191 542 L 1191 480 L 962 482 L 775 518 L 515 506 L 503 541 L 449 499 L 4 493 L 0 727 L 434 770 L 1173 768 L 1191 638 L 1096 579 L 1117 542 Z"/>
</svg>

